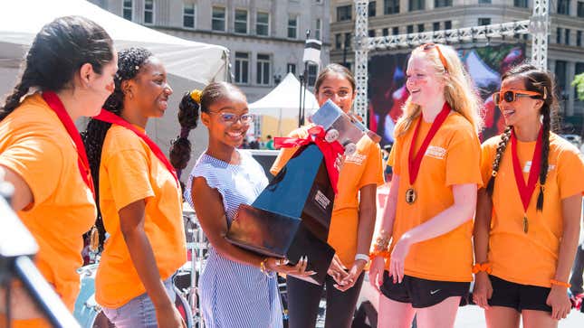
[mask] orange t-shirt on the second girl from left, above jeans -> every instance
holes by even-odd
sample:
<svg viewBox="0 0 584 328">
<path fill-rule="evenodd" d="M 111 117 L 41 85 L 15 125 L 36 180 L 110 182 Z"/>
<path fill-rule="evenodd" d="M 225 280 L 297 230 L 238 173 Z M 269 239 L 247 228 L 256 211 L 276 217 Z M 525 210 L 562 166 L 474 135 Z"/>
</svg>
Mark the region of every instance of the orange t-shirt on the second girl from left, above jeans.
<svg viewBox="0 0 584 328">
<path fill-rule="evenodd" d="M 146 201 L 144 230 L 162 279 L 187 261 L 182 197 L 173 175 L 134 132 L 112 125 L 101 151 L 100 208 L 110 233 L 95 278 L 95 299 L 118 308 L 146 288 L 129 258 L 120 230 L 119 211 L 134 201 Z"/>
</svg>

